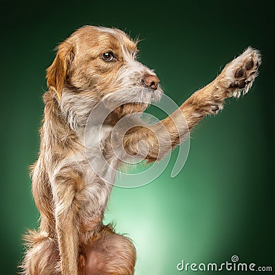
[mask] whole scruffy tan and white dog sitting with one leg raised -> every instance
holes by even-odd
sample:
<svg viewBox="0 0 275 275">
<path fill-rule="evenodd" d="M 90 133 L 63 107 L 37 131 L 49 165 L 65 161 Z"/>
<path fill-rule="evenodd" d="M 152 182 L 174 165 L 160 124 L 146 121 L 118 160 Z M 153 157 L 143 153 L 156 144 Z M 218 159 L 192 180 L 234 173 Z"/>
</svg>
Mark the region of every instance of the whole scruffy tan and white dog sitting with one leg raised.
<svg viewBox="0 0 275 275">
<path fill-rule="evenodd" d="M 87 118 L 96 104 L 103 98 L 108 104 L 110 97 L 111 106 L 120 91 L 135 88 L 133 93 L 124 95 L 131 102 L 112 109 L 102 125 L 100 146 L 104 156 L 113 167 L 120 164 L 110 146 L 113 126 L 129 113 L 144 111 L 162 94 L 159 78 L 136 60 L 136 54 L 137 43 L 124 32 L 102 27 L 80 28 L 58 46 L 56 58 L 47 69 L 49 89 L 43 96 L 39 158 L 31 167 L 40 227 L 25 235 L 23 274 L 134 273 L 133 243 L 126 236 L 115 234 L 111 225 L 102 224 L 112 185 L 89 165 L 83 140 Z M 259 52 L 248 47 L 170 116 L 127 131 L 121 139 L 124 151 L 138 155 L 143 150 L 142 140 L 148 162 L 161 159 L 203 117 L 217 114 L 226 98 L 245 94 L 260 63 Z M 146 98 L 144 103 L 142 98 Z M 187 124 L 181 124 L 182 115 Z M 164 138 L 163 127 L 169 140 Z"/>
</svg>

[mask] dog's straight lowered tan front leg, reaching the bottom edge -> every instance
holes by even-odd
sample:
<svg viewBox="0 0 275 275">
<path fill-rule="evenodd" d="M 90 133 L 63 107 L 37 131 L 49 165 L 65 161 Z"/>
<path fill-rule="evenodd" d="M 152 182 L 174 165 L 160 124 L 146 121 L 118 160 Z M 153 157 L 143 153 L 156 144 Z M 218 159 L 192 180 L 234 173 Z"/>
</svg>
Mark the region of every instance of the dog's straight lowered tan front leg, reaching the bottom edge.
<svg viewBox="0 0 275 275">
<path fill-rule="evenodd" d="M 51 183 L 54 198 L 54 218 L 61 258 L 62 275 L 78 274 L 78 194 L 83 188 L 81 174 L 72 168 L 61 169 Z"/>
</svg>

